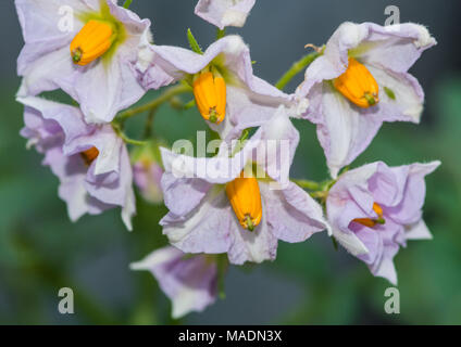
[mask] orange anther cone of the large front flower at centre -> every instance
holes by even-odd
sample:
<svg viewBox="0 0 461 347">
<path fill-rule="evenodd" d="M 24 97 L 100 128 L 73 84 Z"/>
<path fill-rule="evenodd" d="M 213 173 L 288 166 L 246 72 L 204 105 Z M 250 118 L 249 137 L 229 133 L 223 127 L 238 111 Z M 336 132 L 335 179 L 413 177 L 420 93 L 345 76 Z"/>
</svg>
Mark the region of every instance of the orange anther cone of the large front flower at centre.
<svg viewBox="0 0 461 347">
<path fill-rule="evenodd" d="M 254 177 L 244 178 L 241 172 L 239 178 L 227 183 L 226 194 L 241 227 L 253 231 L 262 217 L 258 180 Z"/>
</svg>

